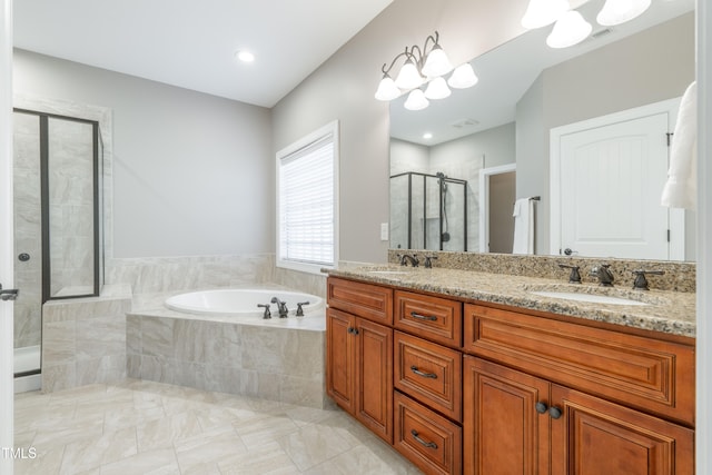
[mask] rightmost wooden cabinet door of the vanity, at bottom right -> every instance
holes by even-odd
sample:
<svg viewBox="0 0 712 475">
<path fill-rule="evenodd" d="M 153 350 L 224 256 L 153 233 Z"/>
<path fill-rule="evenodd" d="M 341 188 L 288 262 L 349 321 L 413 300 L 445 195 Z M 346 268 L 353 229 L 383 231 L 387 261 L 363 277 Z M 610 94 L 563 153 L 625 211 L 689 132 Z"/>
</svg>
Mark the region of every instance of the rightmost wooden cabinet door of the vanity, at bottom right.
<svg viewBox="0 0 712 475">
<path fill-rule="evenodd" d="M 552 400 L 552 475 L 694 473 L 692 431 L 557 385 Z"/>
</svg>

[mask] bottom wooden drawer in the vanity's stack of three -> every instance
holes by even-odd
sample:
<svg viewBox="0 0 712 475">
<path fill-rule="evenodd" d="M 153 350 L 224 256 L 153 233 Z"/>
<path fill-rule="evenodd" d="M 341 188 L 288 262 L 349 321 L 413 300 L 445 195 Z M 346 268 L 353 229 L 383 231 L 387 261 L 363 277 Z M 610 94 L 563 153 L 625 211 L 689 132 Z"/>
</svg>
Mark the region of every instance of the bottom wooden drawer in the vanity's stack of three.
<svg viewBox="0 0 712 475">
<path fill-rule="evenodd" d="M 396 392 L 394 447 L 427 474 L 462 473 L 462 428 Z"/>
</svg>

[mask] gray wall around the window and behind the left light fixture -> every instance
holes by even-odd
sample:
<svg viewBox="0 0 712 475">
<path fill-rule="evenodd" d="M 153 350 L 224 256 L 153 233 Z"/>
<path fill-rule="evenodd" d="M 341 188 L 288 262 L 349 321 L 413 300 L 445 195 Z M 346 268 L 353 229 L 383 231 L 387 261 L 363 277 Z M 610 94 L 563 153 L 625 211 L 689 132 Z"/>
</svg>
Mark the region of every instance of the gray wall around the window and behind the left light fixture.
<svg viewBox="0 0 712 475">
<path fill-rule="evenodd" d="M 454 63 L 522 32 L 527 0 L 395 0 L 273 109 L 273 154 L 330 120 L 340 123 L 340 258 L 385 261 L 388 103 L 374 99 L 380 67 L 437 30 Z"/>
</svg>

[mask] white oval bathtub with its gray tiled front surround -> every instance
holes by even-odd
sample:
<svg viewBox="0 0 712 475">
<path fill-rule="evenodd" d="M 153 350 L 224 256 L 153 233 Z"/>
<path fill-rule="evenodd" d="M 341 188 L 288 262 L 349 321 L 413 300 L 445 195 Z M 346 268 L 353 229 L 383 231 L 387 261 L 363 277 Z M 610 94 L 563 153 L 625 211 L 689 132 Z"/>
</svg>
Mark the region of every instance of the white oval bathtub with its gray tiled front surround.
<svg viewBox="0 0 712 475">
<path fill-rule="evenodd" d="M 326 305 L 285 289 L 156 296 L 127 315 L 127 375 L 198 389 L 326 407 Z M 273 297 L 287 303 L 279 318 Z M 295 315 L 297 303 L 304 317 Z M 270 305 L 264 319 L 258 304 Z"/>
</svg>

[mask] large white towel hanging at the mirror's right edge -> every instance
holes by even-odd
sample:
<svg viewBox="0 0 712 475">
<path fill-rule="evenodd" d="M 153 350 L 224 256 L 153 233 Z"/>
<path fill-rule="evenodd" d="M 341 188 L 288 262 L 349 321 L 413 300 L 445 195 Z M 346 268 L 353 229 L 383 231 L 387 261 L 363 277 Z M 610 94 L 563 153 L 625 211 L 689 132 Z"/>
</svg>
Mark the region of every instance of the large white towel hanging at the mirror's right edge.
<svg viewBox="0 0 712 475">
<path fill-rule="evenodd" d="M 691 83 L 682 96 L 675 133 L 670 151 L 668 182 L 661 205 L 694 209 L 698 201 L 698 85 Z"/>
</svg>

